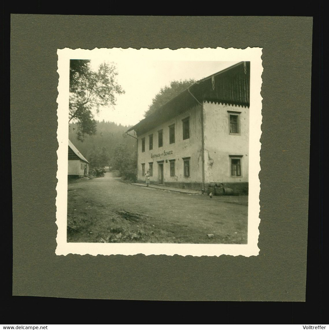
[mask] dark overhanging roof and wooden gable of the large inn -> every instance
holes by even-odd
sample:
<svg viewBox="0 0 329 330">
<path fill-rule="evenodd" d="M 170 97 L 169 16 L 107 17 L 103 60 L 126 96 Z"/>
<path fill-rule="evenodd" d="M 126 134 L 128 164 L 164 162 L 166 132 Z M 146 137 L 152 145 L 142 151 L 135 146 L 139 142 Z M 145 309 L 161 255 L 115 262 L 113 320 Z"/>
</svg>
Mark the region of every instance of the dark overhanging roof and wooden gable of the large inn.
<svg viewBox="0 0 329 330">
<path fill-rule="evenodd" d="M 141 135 L 203 101 L 249 107 L 250 62 L 239 62 L 193 83 L 127 132 Z"/>
</svg>

